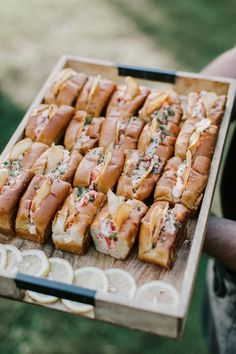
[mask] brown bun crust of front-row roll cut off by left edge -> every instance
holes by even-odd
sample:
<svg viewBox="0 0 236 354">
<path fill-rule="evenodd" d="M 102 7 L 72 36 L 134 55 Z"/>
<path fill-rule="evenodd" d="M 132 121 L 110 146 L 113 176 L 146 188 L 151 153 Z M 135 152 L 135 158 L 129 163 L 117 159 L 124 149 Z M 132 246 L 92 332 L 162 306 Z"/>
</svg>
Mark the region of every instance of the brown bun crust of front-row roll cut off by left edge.
<svg viewBox="0 0 236 354">
<path fill-rule="evenodd" d="M 33 176 L 30 170 L 21 172 L 11 186 L 4 186 L 0 190 L 0 232 L 9 235 L 15 233 L 18 203 Z"/>
</svg>

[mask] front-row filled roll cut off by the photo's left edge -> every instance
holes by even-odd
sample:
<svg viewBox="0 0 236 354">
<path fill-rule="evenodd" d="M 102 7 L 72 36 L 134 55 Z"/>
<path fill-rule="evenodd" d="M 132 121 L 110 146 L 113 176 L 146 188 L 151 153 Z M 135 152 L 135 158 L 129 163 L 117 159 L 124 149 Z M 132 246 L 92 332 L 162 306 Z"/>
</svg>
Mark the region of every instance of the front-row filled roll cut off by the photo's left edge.
<svg viewBox="0 0 236 354">
<path fill-rule="evenodd" d="M 18 203 L 34 173 L 0 168 L 0 232 L 13 235 Z"/>
</svg>

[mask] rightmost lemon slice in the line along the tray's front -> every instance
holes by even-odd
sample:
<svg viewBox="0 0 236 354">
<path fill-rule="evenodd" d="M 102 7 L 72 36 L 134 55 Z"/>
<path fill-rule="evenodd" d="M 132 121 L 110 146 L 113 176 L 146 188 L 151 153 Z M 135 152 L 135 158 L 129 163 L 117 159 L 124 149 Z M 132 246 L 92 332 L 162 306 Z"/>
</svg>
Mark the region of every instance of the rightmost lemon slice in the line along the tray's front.
<svg viewBox="0 0 236 354">
<path fill-rule="evenodd" d="M 135 299 L 154 305 L 164 304 L 167 306 L 177 307 L 179 303 L 179 295 L 176 289 L 163 281 L 155 280 L 143 284 L 136 293 Z"/>
</svg>

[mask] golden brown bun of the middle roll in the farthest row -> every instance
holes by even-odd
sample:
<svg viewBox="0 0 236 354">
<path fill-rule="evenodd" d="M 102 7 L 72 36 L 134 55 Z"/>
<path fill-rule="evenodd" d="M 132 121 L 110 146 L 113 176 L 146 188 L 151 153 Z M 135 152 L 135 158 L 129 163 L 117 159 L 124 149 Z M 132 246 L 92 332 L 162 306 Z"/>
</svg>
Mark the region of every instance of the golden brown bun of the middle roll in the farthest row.
<svg viewBox="0 0 236 354">
<path fill-rule="evenodd" d="M 147 87 L 139 86 L 139 92 L 130 98 L 126 97 L 126 86 L 118 86 L 107 106 L 106 117 L 127 119 L 136 115 L 149 92 Z"/>
</svg>

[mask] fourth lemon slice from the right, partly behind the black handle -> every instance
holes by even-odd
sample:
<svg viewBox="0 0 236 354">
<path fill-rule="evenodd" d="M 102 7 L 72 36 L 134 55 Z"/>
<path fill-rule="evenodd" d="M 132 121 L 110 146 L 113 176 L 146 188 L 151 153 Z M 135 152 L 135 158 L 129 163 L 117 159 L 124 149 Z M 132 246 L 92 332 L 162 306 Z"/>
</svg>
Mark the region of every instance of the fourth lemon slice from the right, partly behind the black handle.
<svg viewBox="0 0 236 354">
<path fill-rule="evenodd" d="M 62 258 L 49 258 L 50 271 L 46 279 L 55 280 L 62 283 L 72 284 L 73 283 L 73 268 L 71 264 Z M 57 297 L 36 293 L 34 291 L 27 291 L 28 295 L 41 304 L 50 304 L 58 300 Z"/>
</svg>

